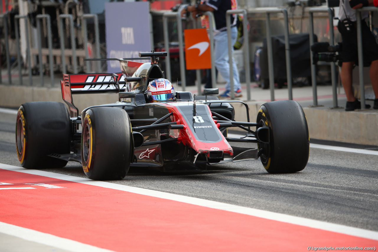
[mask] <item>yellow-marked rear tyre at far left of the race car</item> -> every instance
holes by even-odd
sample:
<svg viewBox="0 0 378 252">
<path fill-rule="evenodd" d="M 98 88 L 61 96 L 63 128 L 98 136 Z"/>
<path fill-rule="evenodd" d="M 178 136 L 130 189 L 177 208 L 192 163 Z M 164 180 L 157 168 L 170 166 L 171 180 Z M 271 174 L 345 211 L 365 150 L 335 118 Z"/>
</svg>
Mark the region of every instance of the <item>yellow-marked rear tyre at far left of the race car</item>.
<svg viewBox="0 0 378 252">
<path fill-rule="evenodd" d="M 71 145 L 70 116 L 63 103 L 24 103 L 17 112 L 16 149 L 24 168 L 60 168 L 66 160 L 48 156 L 68 154 Z"/>
</svg>

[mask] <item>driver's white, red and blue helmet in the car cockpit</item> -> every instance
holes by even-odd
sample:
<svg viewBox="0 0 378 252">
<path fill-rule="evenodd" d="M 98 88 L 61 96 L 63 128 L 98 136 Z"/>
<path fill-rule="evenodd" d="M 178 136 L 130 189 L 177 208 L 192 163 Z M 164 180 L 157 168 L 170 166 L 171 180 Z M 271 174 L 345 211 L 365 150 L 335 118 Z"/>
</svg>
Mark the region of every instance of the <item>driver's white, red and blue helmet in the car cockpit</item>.
<svg viewBox="0 0 378 252">
<path fill-rule="evenodd" d="M 173 100 L 175 90 L 172 83 L 167 79 L 154 79 L 147 87 L 147 98 L 150 102 Z"/>
</svg>

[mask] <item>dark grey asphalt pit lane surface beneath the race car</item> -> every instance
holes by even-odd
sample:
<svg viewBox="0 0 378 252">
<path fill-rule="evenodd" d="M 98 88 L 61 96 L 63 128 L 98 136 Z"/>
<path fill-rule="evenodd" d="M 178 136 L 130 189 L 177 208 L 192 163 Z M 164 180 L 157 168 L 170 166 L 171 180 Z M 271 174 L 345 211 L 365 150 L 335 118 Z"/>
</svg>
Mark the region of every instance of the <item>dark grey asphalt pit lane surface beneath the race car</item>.
<svg viewBox="0 0 378 252">
<path fill-rule="evenodd" d="M 15 117 L 0 111 L 0 163 L 20 166 Z M 214 165 L 197 173 L 130 168 L 124 180 L 109 182 L 378 231 L 377 164 L 377 155 L 310 148 L 306 168 L 294 174 L 268 174 L 254 160 Z M 75 162 L 45 171 L 85 177 Z"/>
</svg>

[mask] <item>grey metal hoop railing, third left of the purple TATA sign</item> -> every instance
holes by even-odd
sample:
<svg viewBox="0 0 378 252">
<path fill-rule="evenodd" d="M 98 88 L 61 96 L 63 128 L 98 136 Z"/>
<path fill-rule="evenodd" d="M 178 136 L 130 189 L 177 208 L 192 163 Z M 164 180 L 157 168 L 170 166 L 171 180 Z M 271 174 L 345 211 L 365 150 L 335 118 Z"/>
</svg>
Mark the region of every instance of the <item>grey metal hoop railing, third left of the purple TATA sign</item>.
<svg viewBox="0 0 378 252">
<path fill-rule="evenodd" d="M 53 42 L 51 35 L 51 18 L 48 14 L 37 15 L 37 36 L 38 36 L 38 53 L 39 53 L 39 75 L 41 77 L 41 84 L 44 86 L 43 82 L 43 65 L 42 65 L 42 33 L 41 33 L 41 22 L 42 19 L 46 18 L 47 22 L 47 41 L 48 41 L 48 54 L 49 54 L 49 65 L 50 65 L 50 81 L 51 87 L 54 85 L 54 66 L 53 66 Z"/>
</svg>

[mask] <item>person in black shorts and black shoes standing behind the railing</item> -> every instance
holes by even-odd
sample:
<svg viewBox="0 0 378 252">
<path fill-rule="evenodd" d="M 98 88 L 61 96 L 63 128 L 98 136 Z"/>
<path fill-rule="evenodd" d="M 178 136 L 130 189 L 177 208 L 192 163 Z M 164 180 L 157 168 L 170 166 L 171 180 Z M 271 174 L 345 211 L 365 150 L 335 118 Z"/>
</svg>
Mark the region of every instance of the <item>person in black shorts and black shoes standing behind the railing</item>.
<svg viewBox="0 0 378 252">
<path fill-rule="evenodd" d="M 357 25 L 355 9 L 372 5 L 374 0 L 340 0 L 338 30 L 342 37 L 342 66 L 341 82 L 347 96 L 346 111 L 361 109 L 361 103 L 354 97 L 352 89 L 352 70 L 354 65 L 358 65 L 357 51 Z M 375 95 L 374 109 L 378 109 L 378 45 L 375 41 L 369 26 L 364 19 L 368 17 L 367 12 L 361 13 L 361 33 L 363 42 L 364 66 L 370 65 L 370 81 Z M 360 83 L 363 85 L 363 83 Z M 370 108 L 366 104 L 366 108 Z"/>
</svg>

